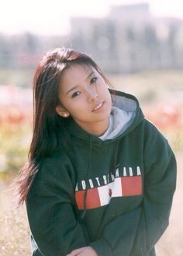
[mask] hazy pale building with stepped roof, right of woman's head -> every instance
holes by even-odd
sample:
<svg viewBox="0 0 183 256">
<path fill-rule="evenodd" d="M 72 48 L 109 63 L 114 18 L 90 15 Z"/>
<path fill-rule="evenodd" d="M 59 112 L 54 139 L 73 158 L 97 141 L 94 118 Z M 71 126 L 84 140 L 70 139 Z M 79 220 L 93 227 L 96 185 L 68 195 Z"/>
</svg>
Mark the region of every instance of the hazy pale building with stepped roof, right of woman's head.
<svg viewBox="0 0 183 256">
<path fill-rule="evenodd" d="M 147 3 L 114 5 L 105 19 L 73 17 L 71 38 L 106 72 L 183 68 L 183 20 L 155 18 Z"/>
</svg>

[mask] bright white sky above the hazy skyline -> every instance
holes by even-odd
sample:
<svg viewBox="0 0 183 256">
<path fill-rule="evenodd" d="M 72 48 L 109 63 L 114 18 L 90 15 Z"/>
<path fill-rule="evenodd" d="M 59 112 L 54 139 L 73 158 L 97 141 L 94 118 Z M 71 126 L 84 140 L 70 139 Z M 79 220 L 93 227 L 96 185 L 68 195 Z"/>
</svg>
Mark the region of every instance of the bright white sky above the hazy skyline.
<svg viewBox="0 0 183 256">
<path fill-rule="evenodd" d="M 183 19 L 183 0 L 0 0 L 0 33 L 67 34 L 71 16 L 105 17 L 111 5 L 148 2 L 154 16 Z"/>
</svg>

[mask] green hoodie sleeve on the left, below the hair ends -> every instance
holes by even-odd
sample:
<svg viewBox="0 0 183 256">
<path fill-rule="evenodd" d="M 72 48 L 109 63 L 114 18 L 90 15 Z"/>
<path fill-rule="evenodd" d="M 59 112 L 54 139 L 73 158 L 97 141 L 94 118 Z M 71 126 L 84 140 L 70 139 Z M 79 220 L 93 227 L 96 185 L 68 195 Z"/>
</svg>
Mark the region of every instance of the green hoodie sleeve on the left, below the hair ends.
<svg viewBox="0 0 183 256">
<path fill-rule="evenodd" d="M 61 163 L 61 164 L 59 164 Z M 44 160 L 26 200 L 33 255 L 65 256 L 84 247 L 87 233 L 73 211 L 74 172 L 68 160 Z"/>
</svg>

